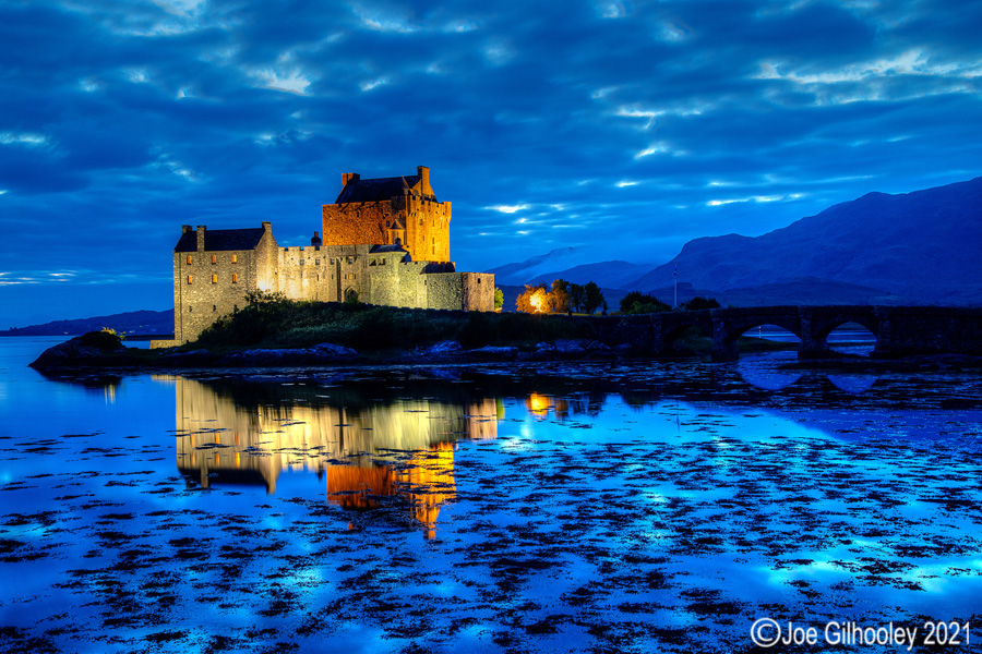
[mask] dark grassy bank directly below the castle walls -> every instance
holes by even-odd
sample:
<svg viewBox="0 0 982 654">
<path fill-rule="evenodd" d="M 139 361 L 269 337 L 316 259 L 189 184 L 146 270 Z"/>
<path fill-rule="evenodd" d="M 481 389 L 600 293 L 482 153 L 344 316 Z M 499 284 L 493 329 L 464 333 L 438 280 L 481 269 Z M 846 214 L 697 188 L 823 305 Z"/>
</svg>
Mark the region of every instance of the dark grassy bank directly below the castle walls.
<svg viewBox="0 0 982 654">
<path fill-rule="evenodd" d="M 559 338 L 589 338 L 562 316 L 450 312 L 333 302 L 256 302 L 218 319 L 192 348 L 309 348 L 336 343 L 356 350 L 394 350 L 444 340 L 465 348 L 531 347 Z"/>
</svg>

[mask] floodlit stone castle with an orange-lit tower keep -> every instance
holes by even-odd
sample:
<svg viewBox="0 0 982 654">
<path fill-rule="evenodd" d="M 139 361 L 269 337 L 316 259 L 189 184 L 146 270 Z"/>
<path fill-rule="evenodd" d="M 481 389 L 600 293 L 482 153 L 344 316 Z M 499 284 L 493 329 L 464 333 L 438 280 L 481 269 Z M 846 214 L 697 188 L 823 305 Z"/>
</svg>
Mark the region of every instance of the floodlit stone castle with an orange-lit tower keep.
<svg viewBox="0 0 982 654">
<path fill-rule="evenodd" d="M 451 203 L 439 202 L 430 170 L 362 180 L 342 175 L 342 192 L 322 207 L 324 238 L 280 247 L 270 222 L 248 229 L 181 227 L 173 249 L 173 340 L 190 342 L 216 318 L 246 305 L 251 291 L 291 300 L 415 308 L 493 311 L 494 276 L 457 272 L 450 261 Z"/>
</svg>

